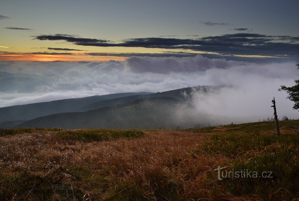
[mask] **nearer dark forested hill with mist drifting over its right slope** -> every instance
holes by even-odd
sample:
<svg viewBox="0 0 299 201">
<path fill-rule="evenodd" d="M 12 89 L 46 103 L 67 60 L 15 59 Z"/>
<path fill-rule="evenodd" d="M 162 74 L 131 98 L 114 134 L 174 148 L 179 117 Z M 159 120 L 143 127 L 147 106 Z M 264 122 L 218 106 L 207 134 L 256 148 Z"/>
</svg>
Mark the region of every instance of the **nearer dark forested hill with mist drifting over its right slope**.
<svg viewBox="0 0 299 201">
<path fill-rule="evenodd" d="M 89 104 L 106 106 L 86 112 L 57 113 L 24 122 L 17 127 L 166 129 L 208 126 L 215 117 L 200 114 L 192 105 L 192 92 L 209 93 L 219 87 L 182 88 L 148 95 L 127 96 Z M 138 99 L 135 99 L 139 97 Z M 127 102 L 126 102 L 127 101 Z M 116 103 L 109 105 L 108 103 Z"/>
</svg>

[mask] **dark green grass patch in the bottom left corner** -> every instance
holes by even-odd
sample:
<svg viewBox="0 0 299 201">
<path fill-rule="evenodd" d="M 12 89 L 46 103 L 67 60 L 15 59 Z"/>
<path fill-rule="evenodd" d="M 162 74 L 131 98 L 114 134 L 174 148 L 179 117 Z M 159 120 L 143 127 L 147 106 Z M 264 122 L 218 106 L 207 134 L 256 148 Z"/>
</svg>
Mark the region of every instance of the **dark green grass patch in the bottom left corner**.
<svg viewBox="0 0 299 201">
<path fill-rule="evenodd" d="M 0 197 L 4 200 L 23 200 L 25 197 L 28 200 L 81 200 L 83 191 L 65 182 L 64 172 L 59 168 L 48 174 L 31 171 L 4 174 L 0 180 Z"/>
</svg>

